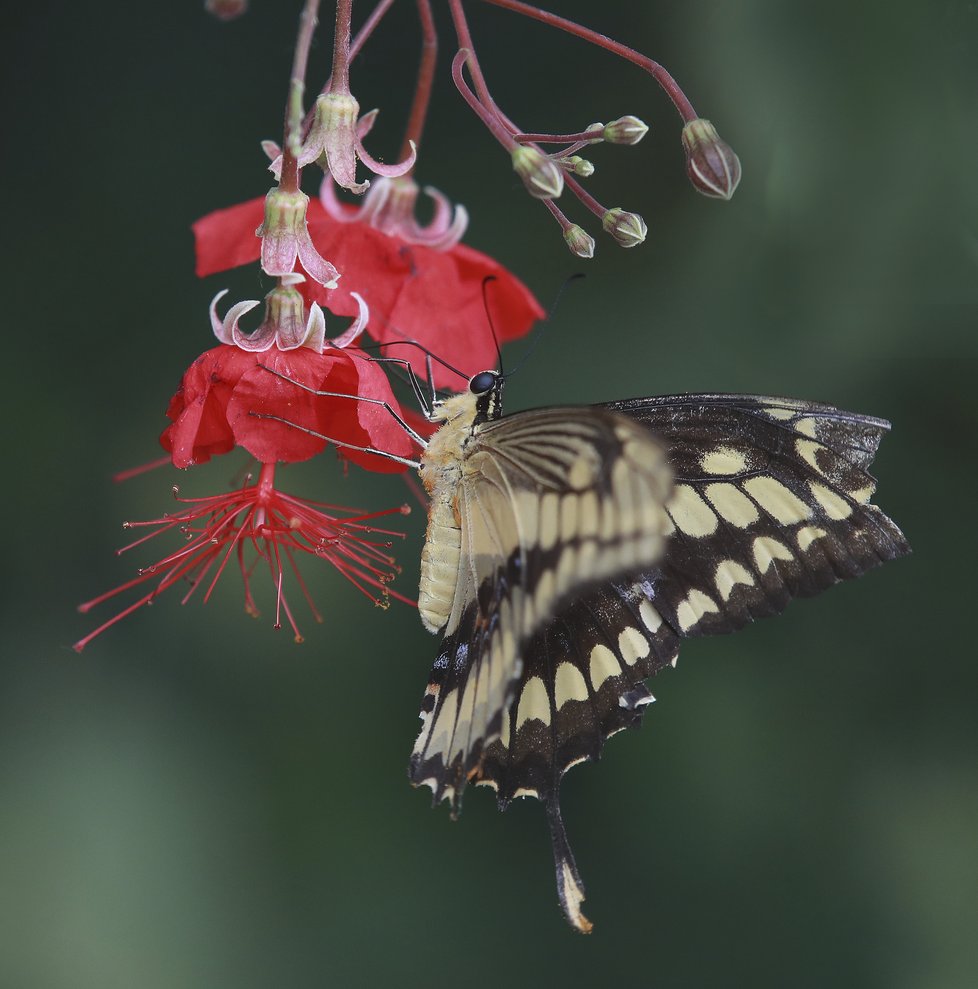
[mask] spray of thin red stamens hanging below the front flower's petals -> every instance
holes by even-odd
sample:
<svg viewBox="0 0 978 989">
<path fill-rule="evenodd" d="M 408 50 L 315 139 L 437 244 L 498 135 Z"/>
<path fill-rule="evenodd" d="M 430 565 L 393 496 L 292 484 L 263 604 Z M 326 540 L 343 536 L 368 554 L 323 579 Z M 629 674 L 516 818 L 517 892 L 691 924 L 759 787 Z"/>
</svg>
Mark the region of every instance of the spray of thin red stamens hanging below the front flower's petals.
<svg viewBox="0 0 978 989">
<path fill-rule="evenodd" d="M 258 567 L 268 568 L 275 587 L 275 628 L 282 627 L 284 613 L 296 642 L 302 641 L 302 635 L 285 594 L 287 571 L 292 572 L 313 617 L 317 622 L 322 621 L 299 573 L 297 559 L 301 554 L 331 563 L 381 607 L 387 607 L 391 597 L 411 603 L 388 587 L 398 572 L 394 559 L 388 552 L 390 537 L 401 534 L 377 529 L 373 525 L 373 520 L 381 516 L 398 512 L 406 514 L 406 506 L 361 514 L 354 509 L 294 498 L 277 490 L 274 479 L 274 465 L 265 464 L 261 468 L 257 484 L 246 482 L 238 491 L 211 498 L 177 498 L 186 507 L 175 514 L 164 515 L 149 522 L 127 522 L 126 528 L 148 526 L 153 531 L 119 550 L 120 554 L 173 529 L 182 533 L 185 541 L 169 556 L 141 569 L 132 580 L 81 605 L 78 610 L 87 613 L 95 605 L 117 594 L 159 578 L 158 583 L 147 594 L 100 625 L 94 632 L 79 639 L 75 643 L 75 650 L 81 652 L 97 635 L 101 635 L 143 605 L 150 604 L 174 584 L 183 583 L 187 587 L 183 604 L 190 600 L 198 587 L 205 585 L 203 594 L 206 602 L 232 559 L 241 571 L 245 611 L 250 615 L 258 615 L 258 607 L 251 593 L 252 575 Z M 249 482 L 250 480 L 249 478 Z M 173 492 L 176 495 L 177 489 L 174 488 Z M 323 509 L 344 513 L 347 517 L 338 518 Z"/>
</svg>

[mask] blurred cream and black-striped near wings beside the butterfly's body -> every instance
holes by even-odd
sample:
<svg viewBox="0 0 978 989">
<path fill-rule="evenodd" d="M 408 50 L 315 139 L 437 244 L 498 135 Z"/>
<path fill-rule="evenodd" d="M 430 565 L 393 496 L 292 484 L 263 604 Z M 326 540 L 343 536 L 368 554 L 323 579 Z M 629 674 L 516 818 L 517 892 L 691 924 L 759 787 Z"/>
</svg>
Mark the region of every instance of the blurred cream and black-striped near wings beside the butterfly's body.
<svg viewBox="0 0 978 989">
<path fill-rule="evenodd" d="M 509 732 L 534 632 L 582 588 L 661 556 L 669 481 L 647 430 L 602 409 L 566 408 L 475 426 L 457 483 L 430 490 L 433 511 L 451 499 L 461 547 L 411 779 L 457 808 L 486 745 Z M 525 681 L 513 716 L 542 723 L 547 703 L 546 688 Z"/>
</svg>

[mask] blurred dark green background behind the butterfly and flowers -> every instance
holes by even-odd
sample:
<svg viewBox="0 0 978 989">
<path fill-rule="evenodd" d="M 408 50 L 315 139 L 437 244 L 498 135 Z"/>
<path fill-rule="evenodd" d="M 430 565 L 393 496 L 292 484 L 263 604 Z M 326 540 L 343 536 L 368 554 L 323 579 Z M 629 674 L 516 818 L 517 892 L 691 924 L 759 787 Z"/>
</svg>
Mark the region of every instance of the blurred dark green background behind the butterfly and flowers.
<svg viewBox="0 0 978 989">
<path fill-rule="evenodd" d="M 295 646 L 267 607 L 242 614 L 232 576 L 206 607 L 171 596 L 70 649 L 110 613 L 75 605 L 155 558 L 113 555 L 120 522 L 172 504 L 166 471 L 110 475 L 158 455 L 212 294 L 262 291 L 255 269 L 197 281 L 189 235 L 269 185 L 258 141 L 280 131 L 298 4 L 252 6 L 231 24 L 197 3 L 5 13 L 0 985 L 978 984 L 978 5 L 555 3 L 661 59 L 717 122 L 744 165 L 717 203 L 689 187 L 678 119 L 638 70 L 472 3 L 526 126 L 651 125 L 597 149 L 589 183 L 649 239 L 599 238 L 586 266 L 451 88 L 445 31 L 420 179 L 545 304 L 590 276 L 509 408 L 716 389 L 885 416 L 878 500 L 915 548 L 688 643 L 643 730 L 568 776 L 590 938 L 557 909 L 535 802 L 499 815 L 477 791 L 452 823 L 407 784 L 435 650 L 408 608 L 307 567 L 326 622 Z M 353 73 L 388 156 L 417 37 L 413 4 L 390 17 Z M 314 85 L 328 39 L 327 23 Z M 406 497 L 329 461 L 289 486 Z M 241 466 L 178 480 L 213 493 Z"/>
</svg>

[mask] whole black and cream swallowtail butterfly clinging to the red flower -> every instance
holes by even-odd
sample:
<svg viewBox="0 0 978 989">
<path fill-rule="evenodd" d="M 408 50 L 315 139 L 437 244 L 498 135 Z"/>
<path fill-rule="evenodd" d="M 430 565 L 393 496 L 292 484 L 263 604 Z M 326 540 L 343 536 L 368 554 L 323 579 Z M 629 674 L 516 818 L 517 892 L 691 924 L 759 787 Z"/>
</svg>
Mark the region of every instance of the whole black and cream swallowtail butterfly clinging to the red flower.
<svg viewBox="0 0 978 989">
<path fill-rule="evenodd" d="M 546 807 L 561 906 L 588 931 L 563 774 L 638 725 L 685 636 L 731 632 L 909 552 L 870 503 L 882 419 L 673 395 L 502 417 L 483 371 L 436 405 L 419 609 L 444 636 L 410 763 L 461 808 Z"/>
</svg>

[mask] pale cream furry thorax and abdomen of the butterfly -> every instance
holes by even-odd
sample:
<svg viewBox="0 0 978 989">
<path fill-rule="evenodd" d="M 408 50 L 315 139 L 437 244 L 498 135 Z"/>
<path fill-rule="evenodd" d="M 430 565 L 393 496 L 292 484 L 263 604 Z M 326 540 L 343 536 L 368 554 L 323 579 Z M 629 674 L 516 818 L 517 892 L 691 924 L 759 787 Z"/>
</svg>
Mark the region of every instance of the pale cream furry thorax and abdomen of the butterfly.
<svg viewBox="0 0 978 989">
<path fill-rule="evenodd" d="M 471 392 L 446 399 L 432 415 L 443 425 L 421 455 L 421 481 L 431 504 L 421 552 L 418 611 L 429 632 L 445 627 L 455 598 L 462 544 L 457 494 L 476 417 L 476 396 Z"/>
</svg>

